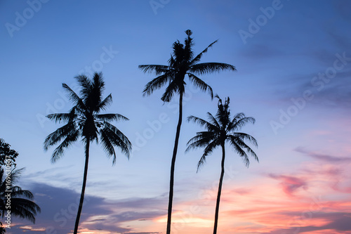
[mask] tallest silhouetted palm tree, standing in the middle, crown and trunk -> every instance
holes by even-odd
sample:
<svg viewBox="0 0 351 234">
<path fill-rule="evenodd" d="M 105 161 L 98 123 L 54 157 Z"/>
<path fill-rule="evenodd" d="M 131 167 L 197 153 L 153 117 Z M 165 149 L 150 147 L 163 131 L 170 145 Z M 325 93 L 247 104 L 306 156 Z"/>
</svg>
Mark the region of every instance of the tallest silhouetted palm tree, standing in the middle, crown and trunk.
<svg viewBox="0 0 351 234">
<path fill-rule="evenodd" d="M 168 60 L 168 65 L 139 65 L 139 68 L 143 72 L 150 72 L 157 75 L 156 78 L 148 82 L 143 91 L 144 96 L 150 95 L 154 90 L 160 89 L 161 86 L 168 84 L 166 91 L 164 92 L 161 100 L 164 102 L 170 102 L 173 96 L 179 94 L 179 119 L 176 131 L 176 139 L 174 141 L 173 156 L 171 162 L 171 178 L 169 183 L 169 200 L 168 200 L 168 219 L 167 219 L 167 234 L 171 233 L 171 213 L 173 203 L 173 183 L 174 183 L 174 167 L 176 163 L 176 155 L 178 150 L 178 141 L 180 136 L 180 126 L 182 124 L 183 115 L 183 95 L 185 93 L 185 75 L 189 78 L 190 82 L 194 86 L 201 89 L 201 91 L 208 91 L 213 98 L 213 92 L 211 86 L 208 86 L 206 82 L 197 77 L 198 75 L 208 74 L 211 72 L 220 72 L 222 70 L 235 71 L 235 67 L 226 63 L 199 63 L 204 53 L 207 52 L 208 48 L 213 46 L 217 41 L 213 41 L 207 46 L 204 51 L 194 56 L 192 46 L 194 45 L 192 38 L 192 31 L 185 31 L 187 38 L 185 44 L 181 44 L 179 41 L 173 43 L 173 55 Z"/>
</svg>

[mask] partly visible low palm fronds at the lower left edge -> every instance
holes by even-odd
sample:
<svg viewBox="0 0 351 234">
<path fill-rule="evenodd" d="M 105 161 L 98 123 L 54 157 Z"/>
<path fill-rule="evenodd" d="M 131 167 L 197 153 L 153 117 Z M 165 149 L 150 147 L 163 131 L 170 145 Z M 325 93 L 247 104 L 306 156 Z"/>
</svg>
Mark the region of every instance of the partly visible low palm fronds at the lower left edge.
<svg viewBox="0 0 351 234">
<path fill-rule="evenodd" d="M 5 214 L 10 211 L 11 216 L 18 216 L 21 219 L 27 219 L 35 223 L 35 216 L 41 212 L 41 209 L 32 201 L 34 199 L 33 194 L 29 190 L 22 190 L 20 186 L 15 186 L 22 170 L 23 168 L 12 169 L 11 171 L 0 169 L 0 211 L 3 219 Z M 10 204 L 8 204 L 8 195 L 11 196 Z"/>
</svg>

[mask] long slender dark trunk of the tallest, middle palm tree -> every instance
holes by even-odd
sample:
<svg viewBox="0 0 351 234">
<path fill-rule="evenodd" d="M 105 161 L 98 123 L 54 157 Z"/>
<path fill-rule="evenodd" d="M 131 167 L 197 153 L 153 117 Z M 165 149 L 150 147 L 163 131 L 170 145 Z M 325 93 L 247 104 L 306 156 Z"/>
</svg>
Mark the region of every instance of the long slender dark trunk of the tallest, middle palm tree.
<svg viewBox="0 0 351 234">
<path fill-rule="evenodd" d="M 172 204 L 173 204 L 173 185 L 174 185 L 174 166 L 176 164 L 176 155 L 178 150 L 178 141 L 180 136 L 180 126 L 182 125 L 183 116 L 183 93 L 179 94 L 179 119 L 176 132 L 176 140 L 174 141 L 173 156 L 171 163 L 171 178 L 169 180 L 169 198 L 168 198 L 168 217 L 167 217 L 167 232 L 171 234 L 171 223 L 172 223 Z"/>
</svg>

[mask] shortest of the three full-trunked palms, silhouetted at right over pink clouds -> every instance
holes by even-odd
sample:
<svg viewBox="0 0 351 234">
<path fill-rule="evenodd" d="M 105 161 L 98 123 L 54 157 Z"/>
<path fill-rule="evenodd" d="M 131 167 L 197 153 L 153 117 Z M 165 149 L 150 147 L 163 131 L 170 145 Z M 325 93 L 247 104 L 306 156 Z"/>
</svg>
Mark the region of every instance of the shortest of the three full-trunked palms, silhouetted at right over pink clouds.
<svg viewBox="0 0 351 234">
<path fill-rule="evenodd" d="M 209 121 L 204 119 L 200 119 L 198 117 L 190 116 L 187 120 L 190 122 L 194 122 L 199 124 L 200 126 L 204 126 L 206 131 L 197 132 L 197 136 L 194 136 L 187 143 L 188 147 L 186 152 L 192 150 L 194 148 L 204 148 L 204 154 L 202 155 L 199 163 L 197 164 L 197 171 L 199 168 L 204 165 L 206 162 L 206 157 L 211 155 L 213 150 L 220 146 L 222 148 L 222 163 L 221 168 L 222 171 L 220 173 L 220 181 L 218 186 L 218 195 L 216 202 L 216 212 L 215 212 L 215 223 L 213 228 L 213 234 L 217 233 L 218 226 L 218 211 L 220 204 L 220 193 L 222 190 L 223 176 L 224 176 L 224 162 L 225 162 L 225 142 L 227 141 L 232 145 L 232 148 L 237 154 L 242 157 L 244 160 L 244 164 L 246 167 L 249 167 L 249 155 L 253 156 L 255 160 L 258 161 L 258 157 L 255 152 L 246 145 L 245 141 L 249 141 L 253 143 L 257 147 L 257 141 L 255 138 L 250 136 L 249 134 L 244 134 L 242 132 L 238 132 L 242 126 L 251 122 L 255 123 L 255 119 L 253 117 L 245 117 L 244 113 L 238 113 L 234 115 L 233 119 L 230 119 L 230 110 L 229 103 L 230 99 L 227 98 L 225 103 L 222 103 L 222 100 L 218 98 L 218 111 L 215 117 L 211 115 L 210 112 L 207 112 Z"/>
</svg>

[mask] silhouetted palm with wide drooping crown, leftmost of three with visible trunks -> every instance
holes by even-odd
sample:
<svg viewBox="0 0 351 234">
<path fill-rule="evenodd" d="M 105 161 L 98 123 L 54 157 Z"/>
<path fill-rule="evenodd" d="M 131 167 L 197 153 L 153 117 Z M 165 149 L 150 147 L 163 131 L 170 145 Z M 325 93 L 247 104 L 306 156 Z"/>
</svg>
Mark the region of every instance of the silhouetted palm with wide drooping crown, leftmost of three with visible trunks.
<svg viewBox="0 0 351 234">
<path fill-rule="evenodd" d="M 105 89 L 105 82 L 102 73 L 93 75 L 93 80 L 85 75 L 75 77 L 81 86 L 81 97 L 77 95 L 67 84 L 62 84 L 67 91 L 69 99 L 74 103 L 74 107 L 68 113 L 51 114 L 48 119 L 55 122 L 65 122 L 65 125 L 48 135 L 44 142 L 44 149 L 60 143 L 53 151 L 51 162 L 56 162 L 64 153 L 64 150 L 81 138 L 85 144 L 85 166 L 83 186 L 81 188 L 81 198 L 77 212 L 77 219 L 74 225 L 74 234 L 77 234 L 81 209 L 84 202 L 86 188 L 86 175 L 88 174 L 89 146 L 92 141 L 102 144 L 107 153 L 107 157 L 113 157 L 112 164 L 116 162 L 116 152 L 114 147 L 119 148 L 126 157 L 129 158 L 131 142 L 116 126 L 110 124 L 114 120 L 128 120 L 119 114 L 100 114 L 108 105 L 112 103 L 111 94 L 102 100 L 102 91 Z"/>
</svg>

